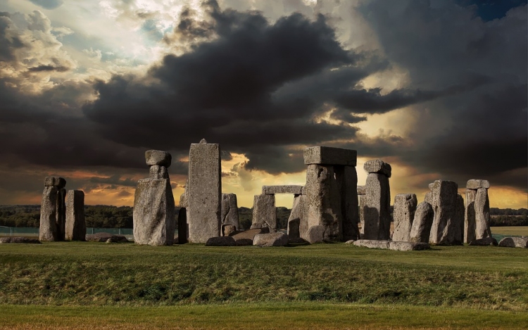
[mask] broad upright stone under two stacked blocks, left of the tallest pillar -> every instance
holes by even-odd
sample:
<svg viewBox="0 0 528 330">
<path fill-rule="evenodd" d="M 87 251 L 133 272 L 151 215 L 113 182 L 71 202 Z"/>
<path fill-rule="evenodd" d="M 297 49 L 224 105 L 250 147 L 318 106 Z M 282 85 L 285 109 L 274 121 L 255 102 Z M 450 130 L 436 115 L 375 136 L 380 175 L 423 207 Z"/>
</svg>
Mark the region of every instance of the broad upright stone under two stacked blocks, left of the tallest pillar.
<svg viewBox="0 0 528 330">
<path fill-rule="evenodd" d="M 134 242 L 172 245 L 175 233 L 175 205 L 169 179 L 141 179 L 134 195 Z"/>
</svg>

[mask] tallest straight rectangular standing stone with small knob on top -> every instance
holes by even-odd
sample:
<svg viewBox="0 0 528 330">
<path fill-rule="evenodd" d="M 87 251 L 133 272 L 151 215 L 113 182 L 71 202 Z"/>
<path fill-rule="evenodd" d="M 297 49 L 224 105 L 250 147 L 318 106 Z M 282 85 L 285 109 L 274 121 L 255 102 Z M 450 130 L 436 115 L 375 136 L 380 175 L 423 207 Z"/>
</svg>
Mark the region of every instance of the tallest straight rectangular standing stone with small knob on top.
<svg viewBox="0 0 528 330">
<path fill-rule="evenodd" d="M 220 145 L 191 144 L 189 151 L 189 186 L 187 222 L 189 241 L 206 243 L 220 236 L 222 181 Z"/>
</svg>

